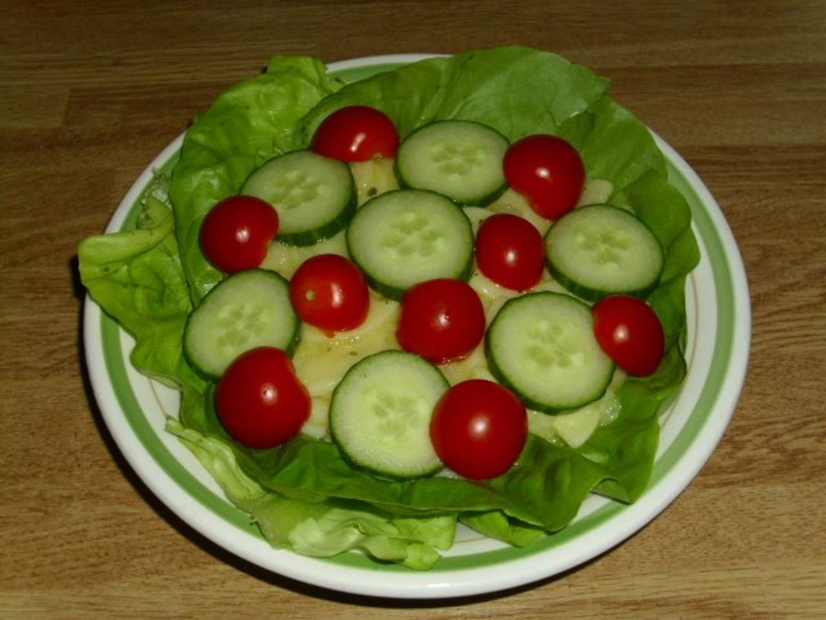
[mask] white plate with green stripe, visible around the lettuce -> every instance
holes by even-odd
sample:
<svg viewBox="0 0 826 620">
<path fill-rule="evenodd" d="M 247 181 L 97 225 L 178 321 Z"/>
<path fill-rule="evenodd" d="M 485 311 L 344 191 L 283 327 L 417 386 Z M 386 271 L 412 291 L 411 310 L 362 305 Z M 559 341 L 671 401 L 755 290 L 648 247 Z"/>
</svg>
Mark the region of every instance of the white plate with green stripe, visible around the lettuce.
<svg viewBox="0 0 826 620">
<path fill-rule="evenodd" d="M 330 69 L 360 79 L 423 57 L 374 56 Z M 165 415 L 177 413 L 178 393 L 132 369 L 131 338 L 87 298 L 83 334 L 89 374 L 117 446 L 152 492 L 211 541 L 275 573 L 343 592 L 409 599 L 494 592 L 556 575 L 619 544 L 666 508 L 714 451 L 743 385 L 751 330 L 743 263 L 719 206 L 686 161 L 654 138 L 668 160 L 672 184 L 691 206 L 702 260 L 686 285 L 688 375 L 663 417 L 652 479 L 636 503 L 591 496 L 569 527 L 524 549 L 463 530 L 444 560 L 425 572 L 378 565 L 355 552 L 324 560 L 273 550 L 195 457 L 164 432 Z M 182 141 L 179 136 L 140 175 L 107 231 L 128 225 L 153 171 L 171 168 Z"/>
</svg>

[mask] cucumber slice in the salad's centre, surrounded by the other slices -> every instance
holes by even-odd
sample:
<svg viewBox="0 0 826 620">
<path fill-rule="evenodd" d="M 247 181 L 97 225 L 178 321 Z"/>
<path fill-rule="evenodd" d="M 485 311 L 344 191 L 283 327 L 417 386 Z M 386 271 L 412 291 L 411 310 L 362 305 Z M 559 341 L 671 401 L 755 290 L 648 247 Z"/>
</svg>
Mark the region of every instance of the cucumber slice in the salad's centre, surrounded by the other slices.
<svg viewBox="0 0 826 620">
<path fill-rule="evenodd" d="M 370 286 L 396 300 L 425 280 L 466 280 L 473 265 L 468 216 L 449 198 L 420 189 L 364 203 L 347 229 L 347 246 Z"/>
</svg>

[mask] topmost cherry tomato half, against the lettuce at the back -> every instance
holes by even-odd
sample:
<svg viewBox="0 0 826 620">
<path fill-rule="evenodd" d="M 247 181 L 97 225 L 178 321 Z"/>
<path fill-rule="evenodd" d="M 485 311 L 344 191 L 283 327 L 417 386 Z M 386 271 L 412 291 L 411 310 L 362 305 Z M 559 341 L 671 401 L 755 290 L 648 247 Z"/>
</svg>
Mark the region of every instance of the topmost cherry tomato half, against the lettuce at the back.
<svg viewBox="0 0 826 620">
<path fill-rule="evenodd" d="M 344 161 L 366 161 L 381 155 L 395 157 L 399 132 L 375 107 L 350 106 L 336 110 L 321 122 L 312 150 Z"/>
</svg>

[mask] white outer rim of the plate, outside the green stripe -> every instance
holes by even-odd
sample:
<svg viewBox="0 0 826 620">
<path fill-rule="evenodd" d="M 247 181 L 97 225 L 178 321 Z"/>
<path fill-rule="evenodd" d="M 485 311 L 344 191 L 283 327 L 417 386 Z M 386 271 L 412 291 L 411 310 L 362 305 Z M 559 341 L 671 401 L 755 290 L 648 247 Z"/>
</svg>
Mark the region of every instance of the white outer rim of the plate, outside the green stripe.
<svg viewBox="0 0 826 620">
<path fill-rule="evenodd" d="M 433 55 L 401 54 L 367 56 L 332 63 L 328 66 L 328 69 L 331 72 L 335 72 L 346 69 L 359 69 L 376 64 L 409 63 L 431 56 Z M 121 454 L 126 457 L 132 470 L 135 471 L 135 474 L 150 488 L 150 491 L 156 497 L 161 499 L 167 507 L 173 510 L 173 513 L 181 517 L 190 527 L 194 527 L 198 532 L 215 542 L 218 546 L 221 546 L 236 556 L 260 565 L 273 573 L 334 591 L 405 599 L 432 599 L 491 593 L 558 575 L 560 572 L 580 565 L 582 562 L 590 560 L 618 545 L 619 542 L 624 541 L 634 534 L 634 532 L 637 532 L 653 520 L 654 517 L 657 517 L 674 498 L 681 494 L 681 492 L 691 484 L 691 481 L 695 479 L 699 470 L 705 465 L 706 460 L 708 460 L 714 452 L 733 416 L 739 393 L 743 388 L 748 366 L 748 350 L 751 337 L 748 281 L 746 279 L 743 261 L 729 224 L 726 222 L 722 210 L 719 208 L 718 203 L 716 203 L 708 188 L 705 187 L 705 184 L 703 184 L 695 171 L 691 169 L 691 166 L 687 164 L 686 160 L 663 141 L 662 138 L 657 136 L 656 133 L 652 131 L 652 134 L 654 140 L 657 141 L 657 146 L 662 150 L 663 155 L 665 155 L 666 159 L 683 175 L 686 182 L 690 185 L 691 190 L 695 192 L 696 197 L 703 207 L 703 211 L 710 217 L 713 223 L 714 231 L 720 237 L 724 254 L 728 259 L 729 278 L 735 290 L 733 303 L 739 320 L 735 323 L 736 331 L 731 336 L 733 351 L 730 356 L 730 361 L 732 364 L 730 364 L 727 369 L 727 380 L 724 382 L 724 389 L 717 394 L 717 400 L 714 406 L 715 410 L 719 409 L 721 413 L 706 421 L 692 442 L 693 445 L 702 439 L 704 449 L 701 451 L 695 449 L 693 453 L 694 458 L 691 460 L 691 467 L 687 470 L 680 470 L 679 473 L 681 475 L 676 475 L 676 470 L 679 468 L 672 468 L 672 470 L 667 472 L 665 479 L 669 482 L 673 482 L 675 481 L 674 479 L 679 478 L 677 484 L 670 485 L 669 493 L 661 494 L 656 498 L 657 501 L 652 502 L 652 498 L 649 497 L 646 502 L 641 503 L 643 498 L 646 498 L 652 490 L 649 484 L 649 488 L 645 494 L 643 494 L 643 498 L 638 500 L 638 503 L 623 507 L 622 512 L 631 518 L 624 519 L 624 527 L 620 527 L 614 536 L 607 537 L 600 546 L 591 547 L 585 554 L 581 554 L 581 556 L 577 558 L 558 565 L 551 571 L 540 571 L 539 573 L 531 571 L 531 575 L 527 575 L 527 578 L 525 570 L 515 571 L 515 574 L 507 571 L 508 575 L 503 575 L 506 571 L 496 571 L 496 575 L 491 578 L 491 575 L 485 575 L 485 573 L 491 570 L 490 566 L 435 572 L 405 571 L 404 573 L 398 574 L 394 572 L 369 571 L 352 566 L 333 565 L 327 560 L 297 556 L 297 554 L 289 551 L 273 550 L 268 545 L 266 546 L 268 556 L 271 556 L 278 566 L 273 566 L 273 562 L 262 564 L 258 554 L 249 553 L 249 545 L 247 542 L 239 540 L 239 537 L 235 536 L 217 536 L 211 527 L 206 527 L 204 525 L 205 522 L 209 523 L 212 517 L 219 519 L 220 517 L 209 513 L 206 508 L 188 494 L 186 489 L 179 488 L 161 466 L 148 455 L 144 446 L 140 443 L 139 438 L 131 433 L 131 427 L 129 427 L 128 424 L 118 422 L 116 419 L 118 414 L 123 417 L 123 413 L 118 403 L 114 387 L 109 381 L 107 367 L 102 363 L 100 355 L 97 357 L 93 355 L 93 353 L 102 351 L 102 330 L 100 328 L 102 311 L 87 294 L 83 307 L 83 340 L 88 372 L 103 420 Z M 121 200 L 115 214 L 112 216 L 106 229 L 107 232 L 117 230 L 122 226 L 136 200 L 153 178 L 154 169 L 160 167 L 160 165 L 163 165 L 164 162 L 169 161 L 176 155 L 180 146 L 183 144 L 183 136 L 184 133 L 180 134 L 162 150 L 153 162 L 147 166 L 144 172 L 140 174 L 138 179 L 135 180 L 135 183 L 132 184 L 130 190 Z M 699 236 L 698 241 L 701 242 Z M 163 481 L 163 483 L 161 481 Z M 662 483 L 662 480 L 660 480 L 660 483 Z M 170 484 L 173 487 L 171 489 Z M 182 490 L 183 493 L 181 493 Z M 634 513 L 643 511 L 643 508 L 645 510 L 642 516 L 634 519 Z M 205 510 L 209 513 L 207 516 L 210 517 L 207 518 L 206 521 L 203 520 L 204 515 L 202 514 L 202 511 Z M 196 520 L 197 523 L 192 522 L 193 513 L 201 517 Z M 266 545 L 265 542 L 263 542 L 263 544 Z M 496 567 L 507 564 L 513 569 L 515 563 L 529 564 L 530 560 L 534 559 L 535 556 L 548 554 L 548 552 L 553 552 L 553 550 L 546 549 L 532 556 L 508 560 L 504 563 L 497 564 Z M 281 565 L 285 561 L 290 564 L 289 570 L 285 570 L 285 567 Z M 353 571 L 355 571 L 355 573 Z M 364 579 L 366 575 L 370 575 L 373 579 Z M 376 579 L 377 575 L 389 575 L 391 579 L 389 583 L 381 583 L 381 579 Z M 403 576 L 401 576 L 401 579 L 396 579 L 398 575 Z M 437 575 L 437 577 L 434 579 L 432 575 Z"/>
</svg>

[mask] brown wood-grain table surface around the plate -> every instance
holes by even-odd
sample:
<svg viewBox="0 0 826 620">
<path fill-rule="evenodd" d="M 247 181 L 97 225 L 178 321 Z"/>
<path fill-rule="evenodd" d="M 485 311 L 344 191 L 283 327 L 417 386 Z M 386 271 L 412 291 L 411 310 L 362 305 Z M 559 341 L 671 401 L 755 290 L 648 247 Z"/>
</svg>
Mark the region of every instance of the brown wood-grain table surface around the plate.
<svg viewBox="0 0 826 620">
<path fill-rule="evenodd" d="M 0 616 L 826 616 L 826 2 L 2 2 Z M 270 575 L 154 499 L 80 347 L 75 246 L 268 56 L 520 43 L 613 80 L 697 170 L 752 295 L 748 377 L 699 477 L 556 579 L 405 603 Z"/>
</svg>

